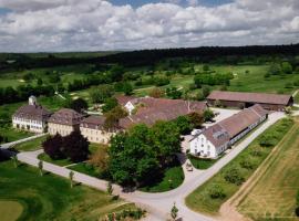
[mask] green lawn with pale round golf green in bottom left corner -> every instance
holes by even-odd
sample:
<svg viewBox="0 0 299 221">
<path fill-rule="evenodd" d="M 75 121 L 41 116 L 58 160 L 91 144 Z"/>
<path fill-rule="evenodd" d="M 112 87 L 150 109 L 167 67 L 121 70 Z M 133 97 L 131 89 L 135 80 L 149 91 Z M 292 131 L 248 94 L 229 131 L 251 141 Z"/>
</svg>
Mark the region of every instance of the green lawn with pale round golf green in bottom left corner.
<svg viewBox="0 0 299 221">
<path fill-rule="evenodd" d="M 39 176 L 25 165 L 13 167 L 11 160 L 0 162 L 1 220 L 102 220 L 105 214 L 134 209 L 133 203 L 85 186 L 70 188 L 70 180 L 53 175 Z"/>
</svg>

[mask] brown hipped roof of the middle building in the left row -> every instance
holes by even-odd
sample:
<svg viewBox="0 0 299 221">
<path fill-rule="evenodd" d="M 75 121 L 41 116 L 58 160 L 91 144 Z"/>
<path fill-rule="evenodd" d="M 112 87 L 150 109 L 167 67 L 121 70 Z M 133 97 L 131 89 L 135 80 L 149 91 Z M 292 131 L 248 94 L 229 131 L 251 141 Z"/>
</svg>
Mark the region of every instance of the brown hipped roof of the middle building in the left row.
<svg viewBox="0 0 299 221">
<path fill-rule="evenodd" d="M 83 115 L 78 112 L 69 108 L 62 108 L 49 118 L 49 123 L 73 126 L 80 124 L 82 119 Z"/>
</svg>

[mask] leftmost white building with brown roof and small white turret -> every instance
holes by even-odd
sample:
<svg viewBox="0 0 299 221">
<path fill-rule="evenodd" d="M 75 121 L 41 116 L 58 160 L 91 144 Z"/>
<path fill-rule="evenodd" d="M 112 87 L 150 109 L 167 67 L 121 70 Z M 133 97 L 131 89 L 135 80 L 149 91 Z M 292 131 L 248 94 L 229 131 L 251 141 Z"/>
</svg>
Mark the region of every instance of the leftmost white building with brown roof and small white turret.
<svg viewBox="0 0 299 221">
<path fill-rule="evenodd" d="M 21 106 L 12 115 L 12 126 L 32 133 L 45 133 L 51 112 L 38 104 L 37 97 L 30 96 L 28 105 Z"/>
</svg>

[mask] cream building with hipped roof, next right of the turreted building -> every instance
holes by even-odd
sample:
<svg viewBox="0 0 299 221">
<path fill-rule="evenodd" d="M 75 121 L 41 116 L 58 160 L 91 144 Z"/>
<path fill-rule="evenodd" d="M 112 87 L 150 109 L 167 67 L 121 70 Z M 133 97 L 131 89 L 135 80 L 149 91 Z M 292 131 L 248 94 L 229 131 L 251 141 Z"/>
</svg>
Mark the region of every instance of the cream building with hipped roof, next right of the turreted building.
<svg viewBox="0 0 299 221">
<path fill-rule="evenodd" d="M 74 130 L 80 130 L 80 123 L 82 119 L 83 115 L 73 109 L 60 109 L 48 120 L 49 134 L 60 134 L 63 137 L 68 136 Z"/>
</svg>

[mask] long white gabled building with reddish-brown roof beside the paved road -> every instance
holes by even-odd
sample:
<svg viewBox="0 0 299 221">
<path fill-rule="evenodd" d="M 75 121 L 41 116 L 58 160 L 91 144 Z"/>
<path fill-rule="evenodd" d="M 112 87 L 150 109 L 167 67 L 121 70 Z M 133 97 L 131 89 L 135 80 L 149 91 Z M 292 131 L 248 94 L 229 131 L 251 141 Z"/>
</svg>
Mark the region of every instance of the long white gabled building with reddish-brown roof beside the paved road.
<svg viewBox="0 0 299 221">
<path fill-rule="evenodd" d="M 254 105 L 195 135 L 189 141 L 190 154 L 204 158 L 217 158 L 228 147 L 262 123 L 268 112 Z"/>
</svg>

